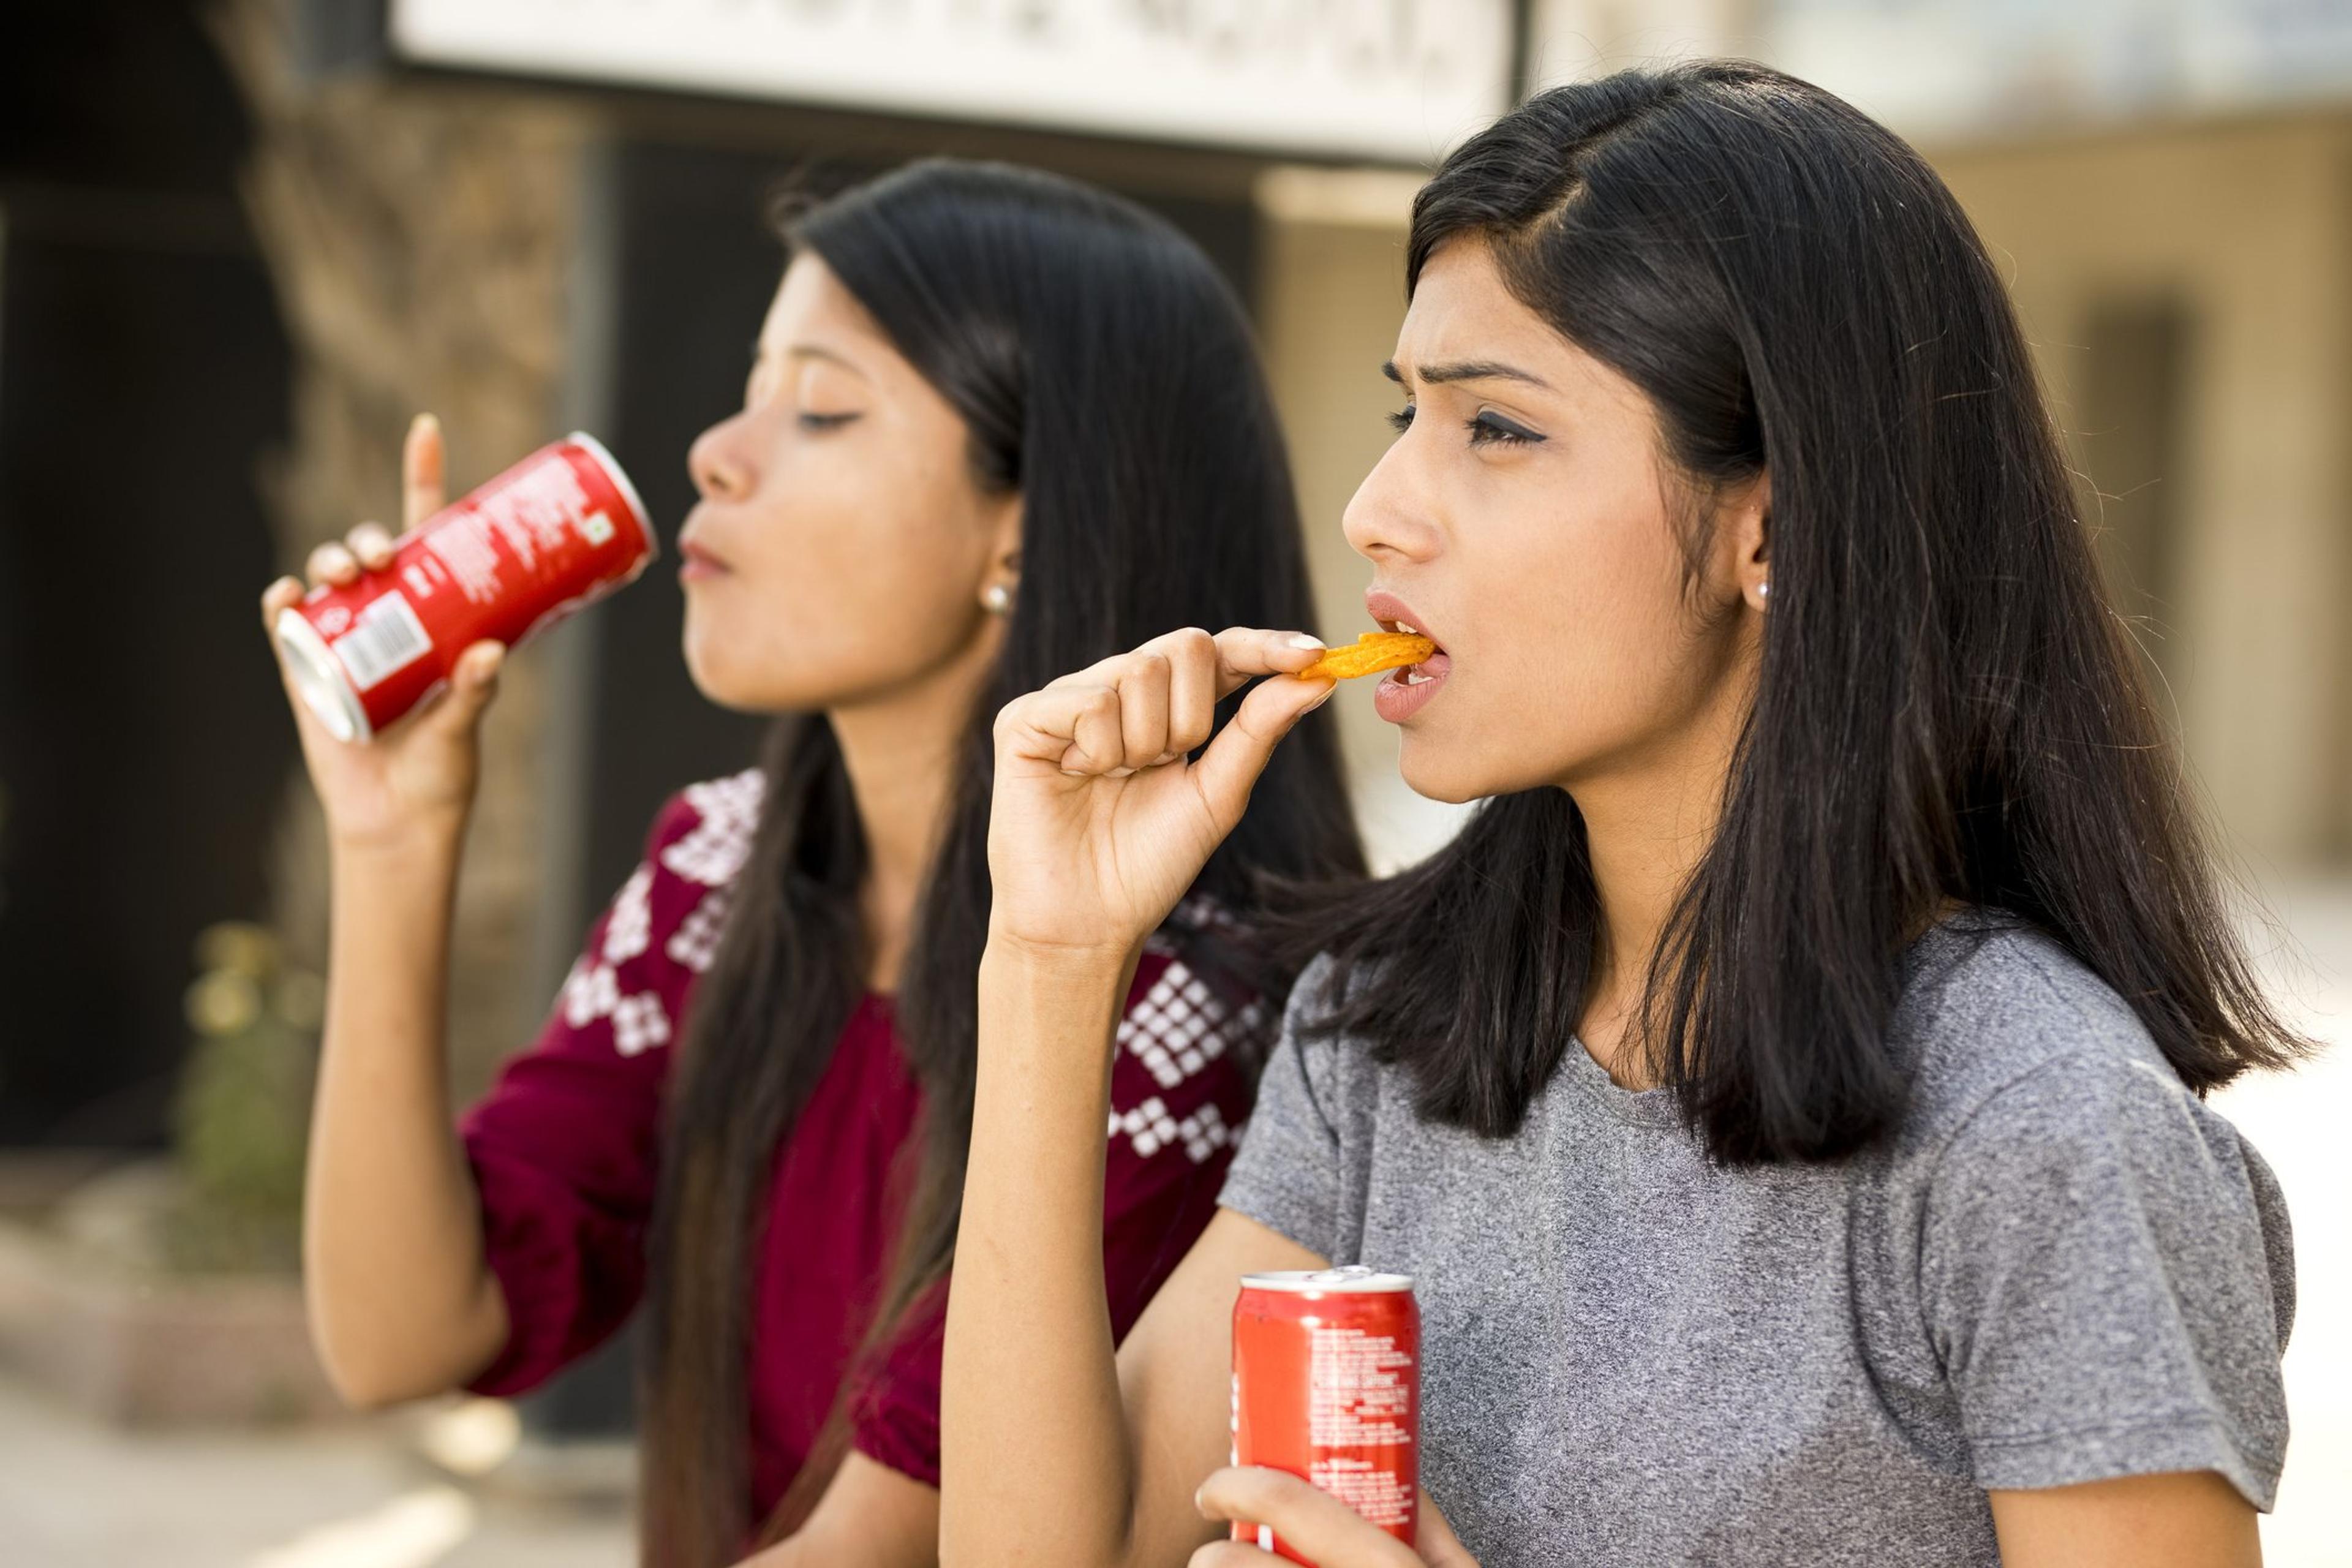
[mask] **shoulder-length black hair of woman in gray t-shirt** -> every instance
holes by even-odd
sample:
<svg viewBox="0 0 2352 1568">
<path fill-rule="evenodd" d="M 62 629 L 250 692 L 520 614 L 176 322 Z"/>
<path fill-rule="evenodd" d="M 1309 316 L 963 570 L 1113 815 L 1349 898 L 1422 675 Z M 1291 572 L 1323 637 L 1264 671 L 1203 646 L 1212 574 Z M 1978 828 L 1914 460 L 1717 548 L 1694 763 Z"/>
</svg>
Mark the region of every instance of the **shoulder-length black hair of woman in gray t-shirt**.
<svg viewBox="0 0 2352 1568">
<path fill-rule="evenodd" d="M 1900 954 L 1945 900 L 2063 943 L 2199 1093 L 2307 1048 L 2227 919 L 2002 280 L 1910 146 L 1762 66 L 1628 71 L 1446 158 L 1406 292 L 1449 242 L 1649 397 L 1691 494 L 1771 477 L 1755 703 L 1635 1013 L 1715 1159 L 1896 1124 Z M 1581 1048 L 1576 802 L 1491 799 L 1301 933 L 1336 959 L 1317 1027 L 1406 1063 L 1425 1117 L 1505 1135 Z"/>
</svg>

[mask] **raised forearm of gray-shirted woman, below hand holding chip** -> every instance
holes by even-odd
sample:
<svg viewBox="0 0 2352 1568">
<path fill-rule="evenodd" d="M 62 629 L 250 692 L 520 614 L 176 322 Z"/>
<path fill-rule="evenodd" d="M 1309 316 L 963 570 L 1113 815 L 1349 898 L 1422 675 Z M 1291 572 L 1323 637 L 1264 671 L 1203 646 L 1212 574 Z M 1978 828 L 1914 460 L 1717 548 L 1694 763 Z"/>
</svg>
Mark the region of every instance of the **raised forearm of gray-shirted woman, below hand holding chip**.
<svg viewBox="0 0 2352 1568">
<path fill-rule="evenodd" d="M 941 1389 L 941 1561 L 1122 1561 L 1134 1458 L 1103 1293 L 1103 1121 L 1131 959 L 1009 954 L 978 1081 Z"/>
</svg>

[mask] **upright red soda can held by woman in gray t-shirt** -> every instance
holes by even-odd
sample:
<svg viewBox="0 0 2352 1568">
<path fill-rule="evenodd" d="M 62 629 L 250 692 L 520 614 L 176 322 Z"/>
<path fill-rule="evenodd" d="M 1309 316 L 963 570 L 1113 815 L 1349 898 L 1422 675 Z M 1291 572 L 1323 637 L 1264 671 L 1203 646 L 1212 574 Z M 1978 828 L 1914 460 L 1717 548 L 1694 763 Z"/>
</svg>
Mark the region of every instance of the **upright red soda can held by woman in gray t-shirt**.
<svg viewBox="0 0 2352 1568">
<path fill-rule="evenodd" d="M 1421 1307 L 1406 1274 L 1244 1274 L 1232 1302 L 1232 1462 L 1287 1469 L 1406 1547 L 1421 1514 Z M 1249 1540 L 1305 1563 L 1268 1526 Z"/>
</svg>

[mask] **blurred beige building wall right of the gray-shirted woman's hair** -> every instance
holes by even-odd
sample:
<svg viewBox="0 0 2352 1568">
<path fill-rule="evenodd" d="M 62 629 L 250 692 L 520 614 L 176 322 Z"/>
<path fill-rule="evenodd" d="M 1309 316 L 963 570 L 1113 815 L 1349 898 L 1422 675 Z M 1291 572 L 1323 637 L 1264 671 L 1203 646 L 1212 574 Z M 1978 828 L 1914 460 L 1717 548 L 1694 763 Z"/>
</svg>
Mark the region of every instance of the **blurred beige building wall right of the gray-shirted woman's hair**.
<svg viewBox="0 0 2352 1568">
<path fill-rule="evenodd" d="M 2187 308 L 2183 442 L 2154 475 L 2180 487 L 2176 602 L 2154 630 L 2190 766 L 2256 870 L 2340 858 L 2352 129 L 2201 125 L 1936 162 L 2011 282 L 2077 449 L 2096 416 L 2079 397 L 2091 313 Z"/>
</svg>

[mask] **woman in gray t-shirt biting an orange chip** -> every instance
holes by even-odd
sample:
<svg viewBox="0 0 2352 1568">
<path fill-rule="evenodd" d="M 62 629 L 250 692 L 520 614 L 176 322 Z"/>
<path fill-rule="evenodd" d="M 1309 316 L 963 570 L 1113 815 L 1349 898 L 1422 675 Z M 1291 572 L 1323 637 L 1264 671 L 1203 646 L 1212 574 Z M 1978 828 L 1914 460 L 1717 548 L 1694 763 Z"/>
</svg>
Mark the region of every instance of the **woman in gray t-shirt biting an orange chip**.
<svg viewBox="0 0 2352 1568">
<path fill-rule="evenodd" d="M 2199 1095 L 2303 1041 L 1969 221 L 1837 99 L 1698 63 L 1470 139 L 1406 287 L 1345 529 L 1442 649 L 1378 691 L 1404 778 L 1486 806 L 1327 900 L 1223 1211 L 1115 1356 L 1120 976 L 1324 682 L 1176 632 L 1000 715 L 941 1559 L 1242 1519 L 1322 1568 L 2253 1563 L 2286 1213 Z M 1418 1279 L 1418 1559 L 1209 1479 L 1235 1276 L 1327 1262 Z"/>
</svg>

